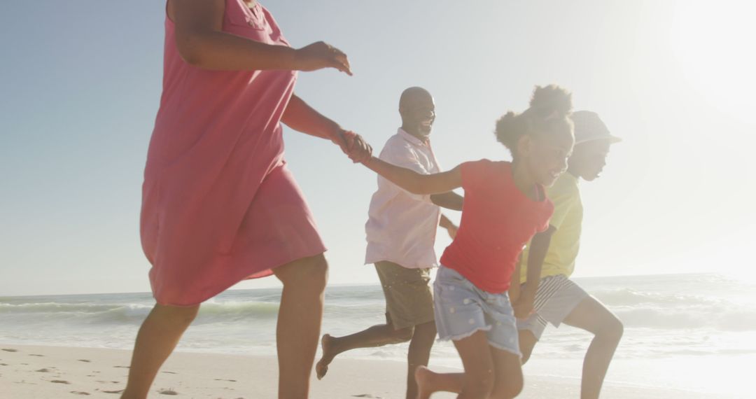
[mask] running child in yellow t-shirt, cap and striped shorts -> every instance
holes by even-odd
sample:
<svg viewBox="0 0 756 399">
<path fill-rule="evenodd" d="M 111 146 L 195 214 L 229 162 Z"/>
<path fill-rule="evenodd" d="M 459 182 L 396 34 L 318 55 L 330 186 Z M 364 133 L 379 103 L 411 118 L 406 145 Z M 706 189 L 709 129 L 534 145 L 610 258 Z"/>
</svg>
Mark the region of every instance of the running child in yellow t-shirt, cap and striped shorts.
<svg viewBox="0 0 756 399">
<path fill-rule="evenodd" d="M 567 172 L 547 191 L 554 203 L 549 228 L 536 234 L 522 252 L 510 295 L 518 317 L 522 363 L 528 361 L 546 323 L 566 323 L 593 332 L 583 363 L 581 398 L 597 398 L 609 362 L 622 336 L 622 323 L 596 298 L 569 279 L 580 246 L 583 205 L 578 181 L 593 181 L 606 165 L 609 146 L 620 141 L 596 113 L 572 113 L 575 148 Z M 516 288 L 517 280 L 522 286 Z M 519 292 L 518 292 L 519 291 Z"/>
</svg>

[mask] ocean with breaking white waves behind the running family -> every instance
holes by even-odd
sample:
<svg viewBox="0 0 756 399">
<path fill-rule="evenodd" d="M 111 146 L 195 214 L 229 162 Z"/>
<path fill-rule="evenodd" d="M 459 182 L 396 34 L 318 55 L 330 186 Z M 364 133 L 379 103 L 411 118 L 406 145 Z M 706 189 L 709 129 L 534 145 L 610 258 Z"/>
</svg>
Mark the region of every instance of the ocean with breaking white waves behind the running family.
<svg viewBox="0 0 756 399">
<path fill-rule="evenodd" d="M 756 366 L 756 285 L 717 274 L 575 279 L 625 326 L 608 380 L 741 397 Z M 280 289 L 229 290 L 200 308 L 178 351 L 275 354 Z M 150 293 L 0 297 L 0 343 L 131 349 L 153 305 Z M 323 332 L 342 336 L 383 323 L 380 286 L 329 286 Z M 579 378 L 590 334 L 544 332 L 525 373 Z M 344 357 L 404 360 L 407 345 Z M 338 358 L 336 359 L 338 361 Z M 438 342 L 432 364 L 460 367 Z M 745 397 L 745 396 L 742 396 Z"/>
</svg>

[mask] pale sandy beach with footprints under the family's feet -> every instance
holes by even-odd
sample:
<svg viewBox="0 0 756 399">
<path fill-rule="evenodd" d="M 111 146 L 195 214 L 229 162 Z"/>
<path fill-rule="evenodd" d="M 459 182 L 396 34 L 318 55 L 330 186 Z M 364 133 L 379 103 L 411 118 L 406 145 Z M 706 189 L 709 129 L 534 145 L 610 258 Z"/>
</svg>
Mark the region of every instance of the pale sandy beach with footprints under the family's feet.
<svg viewBox="0 0 756 399">
<path fill-rule="evenodd" d="M 2 345 L 0 397 L 119 397 L 129 372 L 130 351 Z M 395 360 L 339 359 L 329 374 L 311 381 L 312 399 L 404 397 L 404 363 Z M 441 367 L 438 370 L 454 371 Z M 150 397 L 251 399 L 276 397 L 275 357 L 176 352 L 160 371 Z M 526 376 L 520 397 L 578 397 L 577 379 Z M 454 394 L 438 393 L 441 399 Z M 608 382 L 603 397 L 723 397 L 672 388 Z"/>
</svg>

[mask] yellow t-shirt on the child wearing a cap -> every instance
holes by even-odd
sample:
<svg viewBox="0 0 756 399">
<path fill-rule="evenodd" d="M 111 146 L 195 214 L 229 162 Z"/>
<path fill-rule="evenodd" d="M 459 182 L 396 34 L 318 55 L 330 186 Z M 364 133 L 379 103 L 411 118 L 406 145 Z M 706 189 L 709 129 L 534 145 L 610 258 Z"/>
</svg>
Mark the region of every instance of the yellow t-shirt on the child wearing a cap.
<svg viewBox="0 0 756 399">
<path fill-rule="evenodd" d="M 580 199 L 578 178 L 565 172 L 548 188 L 547 196 L 554 203 L 554 213 L 549 224 L 556 228 L 556 231 L 551 236 L 549 250 L 541 269 L 541 278 L 557 274 L 569 276 L 575 269 L 583 222 L 583 203 Z M 529 246 L 522 251 L 520 283 L 527 280 L 528 250 Z"/>
</svg>

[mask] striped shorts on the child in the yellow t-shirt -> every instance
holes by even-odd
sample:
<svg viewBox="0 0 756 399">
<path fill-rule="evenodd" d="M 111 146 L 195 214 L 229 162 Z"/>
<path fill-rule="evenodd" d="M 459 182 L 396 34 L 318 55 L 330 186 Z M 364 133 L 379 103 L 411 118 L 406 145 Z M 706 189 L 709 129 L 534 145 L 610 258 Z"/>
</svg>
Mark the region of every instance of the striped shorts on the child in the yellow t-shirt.
<svg viewBox="0 0 756 399">
<path fill-rule="evenodd" d="M 541 339 L 546 323 L 559 327 L 587 296 L 587 292 L 564 274 L 544 277 L 535 292 L 533 313 L 525 320 L 517 319 L 517 329 L 527 329 L 535 339 Z"/>
</svg>

